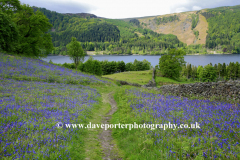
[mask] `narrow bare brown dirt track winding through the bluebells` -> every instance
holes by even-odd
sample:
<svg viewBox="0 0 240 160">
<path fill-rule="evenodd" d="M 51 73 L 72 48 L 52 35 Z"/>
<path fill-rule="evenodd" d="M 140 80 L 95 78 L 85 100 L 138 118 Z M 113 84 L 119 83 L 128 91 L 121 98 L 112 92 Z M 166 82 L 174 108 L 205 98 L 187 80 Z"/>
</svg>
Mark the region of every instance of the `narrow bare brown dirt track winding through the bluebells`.
<svg viewBox="0 0 240 160">
<path fill-rule="evenodd" d="M 111 109 L 105 115 L 105 117 L 103 117 L 102 123 L 109 124 L 109 120 L 111 119 L 112 114 L 117 111 L 117 103 L 113 98 L 113 92 L 107 94 L 104 99 L 111 105 Z M 102 132 L 99 135 L 99 140 L 105 154 L 105 156 L 103 157 L 104 160 L 121 160 L 121 158 L 118 158 L 115 144 L 112 142 L 112 131 L 110 129 L 102 129 Z"/>
</svg>

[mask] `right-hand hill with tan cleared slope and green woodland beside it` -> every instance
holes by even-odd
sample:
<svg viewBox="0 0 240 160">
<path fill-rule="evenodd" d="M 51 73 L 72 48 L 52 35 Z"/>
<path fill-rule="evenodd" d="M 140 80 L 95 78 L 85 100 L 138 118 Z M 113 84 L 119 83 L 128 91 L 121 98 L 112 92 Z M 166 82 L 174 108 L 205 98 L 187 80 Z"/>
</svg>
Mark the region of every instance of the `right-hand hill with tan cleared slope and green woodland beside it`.
<svg viewBox="0 0 240 160">
<path fill-rule="evenodd" d="M 177 17 L 174 19 L 174 17 Z M 128 19 L 131 20 L 131 19 Z M 138 18 L 143 28 L 174 34 L 187 45 L 240 51 L 240 5 Z"/>
</svg>

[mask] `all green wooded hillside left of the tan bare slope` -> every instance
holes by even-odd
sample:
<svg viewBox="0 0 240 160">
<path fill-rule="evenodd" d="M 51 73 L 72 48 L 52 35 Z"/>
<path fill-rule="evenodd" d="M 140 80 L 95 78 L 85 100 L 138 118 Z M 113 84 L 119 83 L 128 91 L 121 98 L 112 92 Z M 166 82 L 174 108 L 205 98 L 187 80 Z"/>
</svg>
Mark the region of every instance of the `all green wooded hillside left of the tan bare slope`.
<svg viewBox="0 0 240 160">
<path fill-rule="evenodd" d="M 85 51 L 107 54 L 161 54 L 167 48 L 184 46 L 175 35 L 143 29 L 137 19 L 126 22 L 92 14 L 60 14 L 45 8 L 33 8 L 43 12 L 53 25 L 50 31 L 55 47 L 53 54 L 66 54 L 71 37 L 76 37 Z"/>
</svg>

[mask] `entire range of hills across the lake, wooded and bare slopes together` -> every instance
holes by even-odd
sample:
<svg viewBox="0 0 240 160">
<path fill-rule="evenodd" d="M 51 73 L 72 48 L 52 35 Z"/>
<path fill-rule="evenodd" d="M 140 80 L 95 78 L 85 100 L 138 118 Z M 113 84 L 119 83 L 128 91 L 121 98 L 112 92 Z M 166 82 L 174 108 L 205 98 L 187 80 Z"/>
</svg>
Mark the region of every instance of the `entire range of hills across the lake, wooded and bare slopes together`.
<svg viewBox="0 0 240 160">
<path fill-rule="evenodd" d="M 90 51 L 164 54 L 167 48 L 196 45 L 199 49 L 240 53 L 240 5 L 122 20 L 33 8 L 49 18 L 53 44 L 61 46 L 60 50 L 74 36 L 86 42 L 83 47 Z"/>
</svg>

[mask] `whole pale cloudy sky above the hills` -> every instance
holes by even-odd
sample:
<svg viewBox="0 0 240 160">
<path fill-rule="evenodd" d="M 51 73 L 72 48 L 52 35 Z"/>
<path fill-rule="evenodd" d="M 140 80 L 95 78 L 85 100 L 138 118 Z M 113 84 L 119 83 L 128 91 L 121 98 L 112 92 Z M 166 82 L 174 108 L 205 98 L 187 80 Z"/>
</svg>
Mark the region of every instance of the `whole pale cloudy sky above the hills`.
<svg viewBox="0 0 240 160">
<path fill-rule="evenodd" d="M 239 5 L 239 0 L 20 0 L 59 13 L 92 13 L 105 18 L 132 18 Z"/>
</svg>

